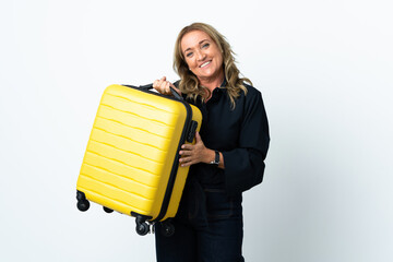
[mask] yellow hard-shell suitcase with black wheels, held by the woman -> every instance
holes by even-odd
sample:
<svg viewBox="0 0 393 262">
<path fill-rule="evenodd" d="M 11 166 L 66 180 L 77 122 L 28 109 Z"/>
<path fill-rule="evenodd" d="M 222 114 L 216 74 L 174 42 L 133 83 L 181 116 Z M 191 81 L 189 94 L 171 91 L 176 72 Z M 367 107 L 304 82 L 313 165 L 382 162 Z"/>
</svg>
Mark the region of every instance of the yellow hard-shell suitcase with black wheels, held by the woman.
<svg viewBox="0 0 393 262">
<path fill-rule="evenodd" d="M 90 201 L 136 217 L 136 233 L 177 213 L 188 167 L 180 167 L 183 143 L 194 143 L 200 110 L 181 96 L 148 91 L 152 85 L 110 85 L 102 97 L 76 182 L 78 209 Z"/>
</svg>

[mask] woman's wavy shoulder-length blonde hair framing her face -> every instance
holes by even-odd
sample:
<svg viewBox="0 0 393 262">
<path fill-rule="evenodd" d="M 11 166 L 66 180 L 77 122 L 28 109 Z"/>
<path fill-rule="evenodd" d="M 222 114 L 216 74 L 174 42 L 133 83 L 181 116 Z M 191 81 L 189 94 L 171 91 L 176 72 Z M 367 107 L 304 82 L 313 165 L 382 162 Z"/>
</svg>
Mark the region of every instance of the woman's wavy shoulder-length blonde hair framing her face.
<svg viewBox="0 0 393 262">
<path fill-rule="evenodd" d="M 176 39 L 175 52 L 174 52 L 174 70 L 180 76 L 179 88 L 181 93 L 186 94 L 188 98 L 196 100 L 198 97 L 202 98 L 202 102 L 210 97 L 211 91 L 207 87 L 199 84 L 198 78 L 193 74 L 186 62 L 184 56 L 181 51 L 181 39 L 182 37 L 192 31 L 202 31 L 206 33 L 212 40 L 218 46 L 218 49 L 223 53 L 223 67 L 226 79 L 225 88 L 228 92 L 231 108 L 236 106 L 236 98 L 240 96 L 240 92 L 243 91 L 247 95 L 247 88 L 243 82 L 252 85 L 252 82 L 247 78 L 240 78 L 240 71 L 236 67 L 235 52 L 231 50 L 229 43 L 225 37 L 218 33 L 213 26 L 204 23 L 193 23 L 182 28 Z"/>
</svg>

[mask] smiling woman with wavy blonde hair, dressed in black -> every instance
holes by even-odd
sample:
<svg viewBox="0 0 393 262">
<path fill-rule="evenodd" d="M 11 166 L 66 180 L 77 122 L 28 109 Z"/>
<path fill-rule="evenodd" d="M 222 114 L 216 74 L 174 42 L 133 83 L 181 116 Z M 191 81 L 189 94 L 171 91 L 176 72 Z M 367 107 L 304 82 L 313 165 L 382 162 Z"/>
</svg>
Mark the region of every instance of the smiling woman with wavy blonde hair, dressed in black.
<svg viewBox="0 0 393 262">
<path fill-rule="evenodd" d="M 245 261 L 241 193 L 262 181 L 270 142 L 261 93 L 239 76 L 229 44 L 207 24 L 180 32 L 174 69 L 179 82 L 164 76 L 153 87 L 162 94 L 175 88 L 203 121 L 196 143 L 179 152 L 180 165 L 191 167 L 174 236 L 156 224 L 157 261 Z"/>
</svg>

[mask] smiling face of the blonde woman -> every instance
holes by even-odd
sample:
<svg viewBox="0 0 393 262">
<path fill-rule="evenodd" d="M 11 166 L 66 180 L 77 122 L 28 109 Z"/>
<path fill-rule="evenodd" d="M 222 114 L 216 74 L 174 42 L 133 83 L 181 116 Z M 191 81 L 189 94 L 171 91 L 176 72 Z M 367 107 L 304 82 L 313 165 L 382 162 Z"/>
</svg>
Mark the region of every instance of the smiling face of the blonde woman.
<svg viewBox="0 0 393 262">
<path fill-rule="evenodd" d="M 223 81 L 223 55 L 206 33 L 187 33 L 181 38 L 180 48 L 189 69 L 200 81 Z"/>
</svg>

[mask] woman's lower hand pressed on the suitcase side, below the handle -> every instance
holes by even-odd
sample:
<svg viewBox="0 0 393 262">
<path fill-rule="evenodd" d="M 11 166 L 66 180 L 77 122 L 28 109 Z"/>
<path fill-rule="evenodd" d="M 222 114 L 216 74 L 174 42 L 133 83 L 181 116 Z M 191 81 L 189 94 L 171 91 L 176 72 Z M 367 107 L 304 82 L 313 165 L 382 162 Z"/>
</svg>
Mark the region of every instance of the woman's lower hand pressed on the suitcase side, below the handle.
<svg viewBox="0 0 393 262">
<path fill-rule="evenodd" d="M 212 158 L 214 159 L 214 151 L 204 145 L 199 132 L 195 132 L 195 144 L 183 144 L 181 146 L 179 162 L 182 167 L 198 163 L 210 163 Z"/>
</svg>

